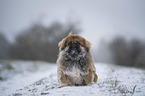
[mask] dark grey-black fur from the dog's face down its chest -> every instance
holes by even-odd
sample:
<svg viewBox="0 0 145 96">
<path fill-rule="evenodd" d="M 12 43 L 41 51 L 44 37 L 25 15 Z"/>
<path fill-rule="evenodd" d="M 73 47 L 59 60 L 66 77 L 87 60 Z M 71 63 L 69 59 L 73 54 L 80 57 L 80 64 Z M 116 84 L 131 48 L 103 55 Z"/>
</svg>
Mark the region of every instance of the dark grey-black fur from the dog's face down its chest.
<svg viewBox="0 0 145 96">
<path fill-rule="evenodd" d="M 62 63 L 63 69 L 72 71 L 73 67 L 76 67 L 81 71 L 86 71 L 87 66 L 89 66 L 86 51 L 80 48 L 78 41 L 70 41 L 68 46 L 69 48 L 66 49 L 63 55 L 63 60 L 65 60 Z"/>
</svg>

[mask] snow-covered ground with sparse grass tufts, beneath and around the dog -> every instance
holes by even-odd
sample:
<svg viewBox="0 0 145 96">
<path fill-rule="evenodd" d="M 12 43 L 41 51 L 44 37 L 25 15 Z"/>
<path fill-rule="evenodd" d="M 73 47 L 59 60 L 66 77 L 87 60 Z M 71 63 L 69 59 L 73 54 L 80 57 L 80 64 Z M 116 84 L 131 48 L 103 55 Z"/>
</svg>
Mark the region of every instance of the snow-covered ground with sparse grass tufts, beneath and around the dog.
<svg viewBox="0 0 145 96">
<path fill-rule="evenodd" d="M 98 82 L 58 88 L 57 66 L 41 61 L 0 61 L 0 96 L 145 96 L 145 70 L 96 63 Z"/>
</svg>

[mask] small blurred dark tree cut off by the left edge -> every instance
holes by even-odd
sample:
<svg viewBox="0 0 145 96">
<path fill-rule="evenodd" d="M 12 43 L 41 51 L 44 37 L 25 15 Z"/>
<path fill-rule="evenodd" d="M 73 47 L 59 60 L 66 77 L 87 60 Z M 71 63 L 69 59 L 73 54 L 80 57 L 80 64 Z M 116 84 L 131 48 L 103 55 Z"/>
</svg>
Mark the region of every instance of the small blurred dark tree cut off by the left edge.
<svg viewBox="0 0 145 96">
<path fill-rule="evenodd" d="M 10 48 L 10 43 L 7 41 L 5 36 L 0 33 L 0 59 L 8 59 L 8 50 Z"/>
</svg>

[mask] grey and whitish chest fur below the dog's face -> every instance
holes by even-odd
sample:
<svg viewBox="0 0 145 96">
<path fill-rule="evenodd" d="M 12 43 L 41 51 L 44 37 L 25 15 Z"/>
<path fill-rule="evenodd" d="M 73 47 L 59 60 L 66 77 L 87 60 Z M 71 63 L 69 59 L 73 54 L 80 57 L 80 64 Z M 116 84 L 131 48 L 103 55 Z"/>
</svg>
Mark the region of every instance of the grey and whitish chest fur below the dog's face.
<svg viewBox="0 0 145 96">
<path fill-rule="evenodd" d="M 65 53 L 63 56 L 63 69 L 66 75 L 70 77 L 79 78 L 82 75 L 88 73 L 88 57 L 85 53 L 81 52 L 77 55 L 72 55 L 70 53 Z"/>
</svg>

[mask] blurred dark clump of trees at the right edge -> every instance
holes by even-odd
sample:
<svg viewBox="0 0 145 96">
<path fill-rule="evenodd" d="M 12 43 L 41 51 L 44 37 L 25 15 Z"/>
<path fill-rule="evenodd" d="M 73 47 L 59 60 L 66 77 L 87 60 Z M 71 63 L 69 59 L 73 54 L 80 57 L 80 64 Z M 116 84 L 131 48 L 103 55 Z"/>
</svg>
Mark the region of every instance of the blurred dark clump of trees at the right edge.
<svg viewBox="0 0 145 96">
<path fill-rule="evenodd" d="M 141 41 L 127 42 L 123 37 L 117 37 L 109 46 L 115 64 L 145 67 L 145 44 Z"/>
</svg>

